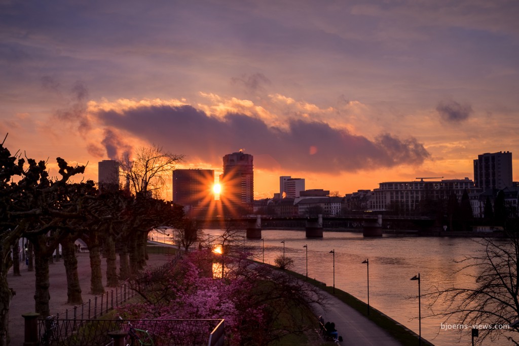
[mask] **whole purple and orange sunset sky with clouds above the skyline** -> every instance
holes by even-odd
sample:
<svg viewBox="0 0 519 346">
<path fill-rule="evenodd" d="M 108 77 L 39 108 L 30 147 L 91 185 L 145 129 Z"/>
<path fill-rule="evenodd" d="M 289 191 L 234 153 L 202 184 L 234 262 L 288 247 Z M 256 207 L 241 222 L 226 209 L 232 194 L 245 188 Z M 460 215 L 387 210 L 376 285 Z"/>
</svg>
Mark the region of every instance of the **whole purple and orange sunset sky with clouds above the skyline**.
<svg viewBox="0 0 519 346">
<path fill-rule="evenodd" d="M 254 156 L 340 195 L 473 178 L 512 151 L 519 181 L 517 1 L 0 0 L 0 133 L 87 164 L 152 143 L 182 168 Z M 171 198 L 171 193 L 169 193 Z"/>
</svg>

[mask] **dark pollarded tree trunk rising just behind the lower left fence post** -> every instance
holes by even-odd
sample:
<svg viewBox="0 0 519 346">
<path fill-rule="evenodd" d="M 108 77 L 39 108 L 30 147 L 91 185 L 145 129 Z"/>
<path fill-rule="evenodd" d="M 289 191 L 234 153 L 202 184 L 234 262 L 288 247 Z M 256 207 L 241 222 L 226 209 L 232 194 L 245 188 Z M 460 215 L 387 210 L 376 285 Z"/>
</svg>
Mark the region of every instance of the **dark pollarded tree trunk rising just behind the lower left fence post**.
<svg viewBox="0 0 519 346">
<path fill-rule="evenodd" d="M 44 244 L 45 246 L 45 244 Z M 36 290 L 34 292 L 34 309 L 42 317 L 50 315 L 49 309 L 49 254 L 45 251 L 45 247 L 35 245 L 35 276 L 36 276 Z"/>
</svg>

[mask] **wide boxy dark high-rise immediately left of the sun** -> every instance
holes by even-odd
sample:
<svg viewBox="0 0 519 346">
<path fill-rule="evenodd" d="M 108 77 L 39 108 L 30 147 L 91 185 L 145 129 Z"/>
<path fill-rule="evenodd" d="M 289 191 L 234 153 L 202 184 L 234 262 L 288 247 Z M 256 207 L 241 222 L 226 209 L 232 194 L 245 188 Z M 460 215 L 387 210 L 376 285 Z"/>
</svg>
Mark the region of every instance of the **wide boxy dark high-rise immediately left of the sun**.
<svg viewBox="0 0 519 346">
<path fill-rule="evenodd" d="M 207 206 L 214 199 L 213 185 L 213 170 L 174 170 L 173 202 L 189 206 Z"/>
</svg>

